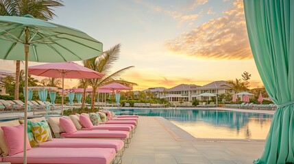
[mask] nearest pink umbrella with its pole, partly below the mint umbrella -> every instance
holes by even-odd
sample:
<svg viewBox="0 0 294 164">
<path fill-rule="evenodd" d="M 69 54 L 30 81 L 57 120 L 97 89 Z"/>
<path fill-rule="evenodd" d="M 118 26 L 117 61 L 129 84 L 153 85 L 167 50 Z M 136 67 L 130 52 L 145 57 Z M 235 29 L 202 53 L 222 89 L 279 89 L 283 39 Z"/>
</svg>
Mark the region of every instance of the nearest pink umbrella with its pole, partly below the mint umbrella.
<svg viewBox="0 0 294 164">
<path fill-rule="evenodd" d="M 66 79 L 95 79 L 101 78 L 104 74 L 90 70 L 84 66 L 73 62 L 42 64 L 38 66 L 30 66 L 29 74 L 40 77 L 62 78 L 62 99 L 61 114 L 63 115 L 64 100 L 64 78 Z"/>
</svg>

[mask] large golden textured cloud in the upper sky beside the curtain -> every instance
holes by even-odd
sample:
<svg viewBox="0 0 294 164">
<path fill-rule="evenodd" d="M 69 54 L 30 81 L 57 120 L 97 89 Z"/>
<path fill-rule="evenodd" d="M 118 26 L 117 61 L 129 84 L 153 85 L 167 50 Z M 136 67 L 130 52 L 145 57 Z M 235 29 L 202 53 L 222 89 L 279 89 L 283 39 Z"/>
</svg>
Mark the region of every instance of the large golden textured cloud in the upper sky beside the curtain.
<svg viewBox="0 0 294 164">
<path fill-rule="evenodd" d="M 210 59 L 251 59 L 243 1 L 237 0 L 223 16 L 165 42 L 177 54 Z"/>
</svg>

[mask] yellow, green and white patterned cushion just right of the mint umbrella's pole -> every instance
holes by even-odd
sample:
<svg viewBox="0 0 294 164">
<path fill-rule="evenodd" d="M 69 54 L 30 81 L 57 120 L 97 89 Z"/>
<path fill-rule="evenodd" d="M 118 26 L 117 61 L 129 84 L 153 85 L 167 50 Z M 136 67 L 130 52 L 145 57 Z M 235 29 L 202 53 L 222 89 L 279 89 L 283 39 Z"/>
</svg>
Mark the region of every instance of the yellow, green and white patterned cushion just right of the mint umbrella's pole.
<svg viewBox="0 0 294 164">
<path fill-rule="evenodd" d="M 40 122 L 29 121 L 31 124 L 31 131 L 34 135 L 36 143 L 42 143 L 52 140 L 52 134 L 49 128 L 49 124 L 42 120 Z"/>
</svg>

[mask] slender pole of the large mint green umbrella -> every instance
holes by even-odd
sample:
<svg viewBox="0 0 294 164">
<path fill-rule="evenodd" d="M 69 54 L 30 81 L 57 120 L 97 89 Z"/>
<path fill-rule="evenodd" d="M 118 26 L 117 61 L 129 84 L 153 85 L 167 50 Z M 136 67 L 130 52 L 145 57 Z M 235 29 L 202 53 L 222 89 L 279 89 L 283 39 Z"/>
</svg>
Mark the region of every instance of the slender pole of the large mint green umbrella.
<svg viewBox="0 0 294 164">
<path fill-rule="evenodd" d="M 26 40 L 28 40 L 29 30 L 25 30 Z M 23 130 L 23 163 L 27 163 L 27 77 L 28 77 L 28 65 L 29 65 L 29 44 L 25 44 L 25 116 L 24 116 L 24 130 Z"/>
</svg>

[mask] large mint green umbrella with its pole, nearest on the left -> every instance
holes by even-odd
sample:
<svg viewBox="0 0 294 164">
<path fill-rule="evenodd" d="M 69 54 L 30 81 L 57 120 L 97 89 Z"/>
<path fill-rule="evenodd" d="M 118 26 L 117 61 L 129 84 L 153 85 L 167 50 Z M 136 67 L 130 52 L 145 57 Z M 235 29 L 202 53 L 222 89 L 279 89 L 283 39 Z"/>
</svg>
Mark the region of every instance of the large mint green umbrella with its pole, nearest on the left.
<svg viewBox="0 0 294 164">
<path fill-rule="evenodd" d="M 27 137 L 28 61 L 79 61 L 102 52 L 102 43 L 86 33 L 29 15 L 0 16 L 0 45 L 0 59 L 25 61 L 24 139 Z M 26 148 L 24 142 L 23 163 L 27 163 Z"/>
</svg>

